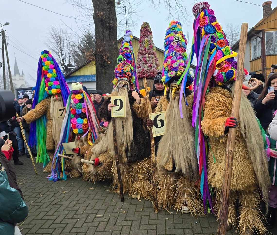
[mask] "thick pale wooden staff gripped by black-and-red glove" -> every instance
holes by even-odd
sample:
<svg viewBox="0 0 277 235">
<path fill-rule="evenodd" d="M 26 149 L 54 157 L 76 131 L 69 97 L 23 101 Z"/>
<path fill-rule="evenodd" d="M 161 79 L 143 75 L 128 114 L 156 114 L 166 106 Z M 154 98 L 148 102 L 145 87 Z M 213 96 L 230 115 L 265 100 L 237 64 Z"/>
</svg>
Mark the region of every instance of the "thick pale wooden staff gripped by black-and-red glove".
<svg viewBox="0 0 277 235">
<path fill-rule="evenodd" d="M 244 77 L 244 54 L 247 39 L 247 23 L 243 23 L 240 31 L 240 45 L 238 49 L 238 65 L 237 65 L 237 77 L 235 81 L 235 91 L 233 98 L 233 107 L 231 117 L 238 119 L 240 110 L 240 97 L 242 94 L 242 82 Z M 230 128 L 226 147 L 226 159 L 224 167 L 223 185 L 222 185 L 222 204 L 220 206 L 219 224 L 217 235 L 226 234 L 228 209 L 229 209 L 229 193 L 232 178 L 232 167 L 234 158 L 234 148 L 236 139 L 237 128 Z"/>
</svg>

